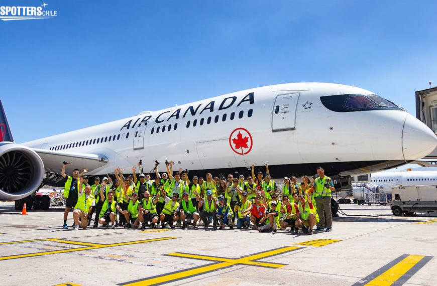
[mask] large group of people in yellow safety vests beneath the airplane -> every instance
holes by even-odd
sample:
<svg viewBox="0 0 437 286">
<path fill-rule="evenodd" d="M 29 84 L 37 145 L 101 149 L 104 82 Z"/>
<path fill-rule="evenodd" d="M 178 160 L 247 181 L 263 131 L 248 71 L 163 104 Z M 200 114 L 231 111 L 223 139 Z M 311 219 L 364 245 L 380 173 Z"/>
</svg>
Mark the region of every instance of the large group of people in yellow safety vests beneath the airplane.
<svg viewBox="0 0 437 286">
<path fill-rule="evenodd" d="M 74 223 L 79 226 L 156 228 L 161 226 L 186 228 L 233 229 L 237 227 L 276 231 L 277 229 L 295 233 L 312 234 L 313 230 L 332 230 L 331 196 L 335 191 L 331 178 L 324 175 L 321 167 L 317 176 L 284 178 L 282 189 L 271 179 L 268 165 L 266 174 L 258 172 L 255 164 L 252 176 L 232 174 L 225 177 L 212 177 L 207 173 L 205 179 L 193 176 L 179 169 L 173 172 L 173 162 L 166 161 L 167 172 L 160 174 L 155 168 L 155 179 L 150 174 L 141 174 L 132 167 L 132 175 L 125 177 L 122 168 L 114 170 L 115 179 L 110 176 L 94 178 L 90 185 L 88 172 L 79 174 L 73 170 L 72 176 L 65 174 L 64 162 L 61 175 L 65 179 L 64 196 L 66 205 L 63 228 L 68 228 L 68 213 L 73 208 Z M 142 166 L 138 164 L 139 170 Z M 94 215 L 95 213 L 95 215 Z M 94 219 L 92 216 L 94 215 Z M 141 226 L 140 226 L 141 224 Z M 314 229 L 315 227 L 315 229 Z"/>
</svg>

